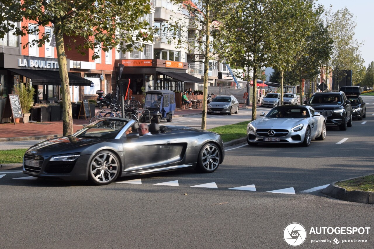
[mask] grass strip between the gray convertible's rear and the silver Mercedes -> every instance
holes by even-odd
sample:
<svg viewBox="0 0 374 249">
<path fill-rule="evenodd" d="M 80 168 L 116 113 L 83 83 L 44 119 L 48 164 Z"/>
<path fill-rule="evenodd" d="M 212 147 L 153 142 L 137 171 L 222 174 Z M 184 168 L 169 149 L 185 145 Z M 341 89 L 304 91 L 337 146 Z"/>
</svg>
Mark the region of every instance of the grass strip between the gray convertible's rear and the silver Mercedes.
<svg viewBox="0 0 374 249">
<path fill-rule="evenodd" d="M 223 142 L 229 142 L 238 138 L 245 138 L 247 135 L 247 125 L 250 121 L 244 121 L 236 124 L 228 124 L 224 126 L 208 129 L 221 135 Z"/>
</svg>

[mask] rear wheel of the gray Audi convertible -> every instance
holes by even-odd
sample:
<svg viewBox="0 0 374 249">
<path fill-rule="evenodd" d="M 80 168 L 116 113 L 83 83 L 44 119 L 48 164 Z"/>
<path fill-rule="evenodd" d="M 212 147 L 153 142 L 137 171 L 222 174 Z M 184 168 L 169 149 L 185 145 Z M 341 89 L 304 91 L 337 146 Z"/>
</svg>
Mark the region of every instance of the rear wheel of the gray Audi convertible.
<svg viewBox="0 0 374 249">
<path fill-rule="evenodd" d="M 218 168 L 220 161 L 221 152 L 217 145 L 205 144 L 199 152 L 196 170 L 203 173 L 212 173 Z"/>
</svg>

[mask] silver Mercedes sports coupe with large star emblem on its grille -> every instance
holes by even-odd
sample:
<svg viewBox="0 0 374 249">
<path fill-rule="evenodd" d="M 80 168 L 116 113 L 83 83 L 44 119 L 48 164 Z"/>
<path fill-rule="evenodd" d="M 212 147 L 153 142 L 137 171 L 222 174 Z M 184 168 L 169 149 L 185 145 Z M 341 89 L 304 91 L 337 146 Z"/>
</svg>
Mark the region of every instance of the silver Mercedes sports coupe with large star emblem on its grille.
<svg viewBox="0 0 374 249">
<path fill-rule="evenodd" d="M 324 116 L 308 105 L 280 105 L 247 126 L 249 145 L 302 144 L 309 146 L 312 139 L 325 140 Z"/>
</svg>

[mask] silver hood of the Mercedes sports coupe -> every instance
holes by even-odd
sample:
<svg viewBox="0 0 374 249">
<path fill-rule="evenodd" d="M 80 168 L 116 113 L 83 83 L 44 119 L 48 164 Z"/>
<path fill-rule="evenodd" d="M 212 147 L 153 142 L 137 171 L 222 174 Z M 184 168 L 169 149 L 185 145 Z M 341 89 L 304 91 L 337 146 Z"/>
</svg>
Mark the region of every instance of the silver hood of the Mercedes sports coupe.
<svg viewBox="0 0 374 249">
<path fill-rule="evenodd" d="M 283 127 L 285 129 L 290 129 L 295 127 L 296 125 L 302 123 L 301 121 L 306 118 L 260 118 L 256 119 L 255 121 L 251 122 L 253 126 L 256 127 L 256 129 L 270 129 L 277 127 Z"/>
</svg>

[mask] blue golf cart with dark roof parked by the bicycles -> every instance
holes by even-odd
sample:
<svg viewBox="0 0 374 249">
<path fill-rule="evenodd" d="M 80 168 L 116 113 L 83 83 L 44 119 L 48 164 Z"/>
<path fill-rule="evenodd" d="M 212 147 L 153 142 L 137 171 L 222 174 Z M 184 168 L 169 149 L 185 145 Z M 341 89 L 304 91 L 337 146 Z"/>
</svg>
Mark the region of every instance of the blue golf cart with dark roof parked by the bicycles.
<svg viewBox="0 0 374 249">
<path fill-rule="evenodd" d="M 175 111 L 175 93 L 170 90 L 151 90 L 145 93 L 144 109 L 150 111 L 150 114 L 147 111 L 144 113 L 146 120 L 149 120 L 150 115 L 151 121 L 157 124 L 161 120 L 171 122 Z"/>
</svg>

